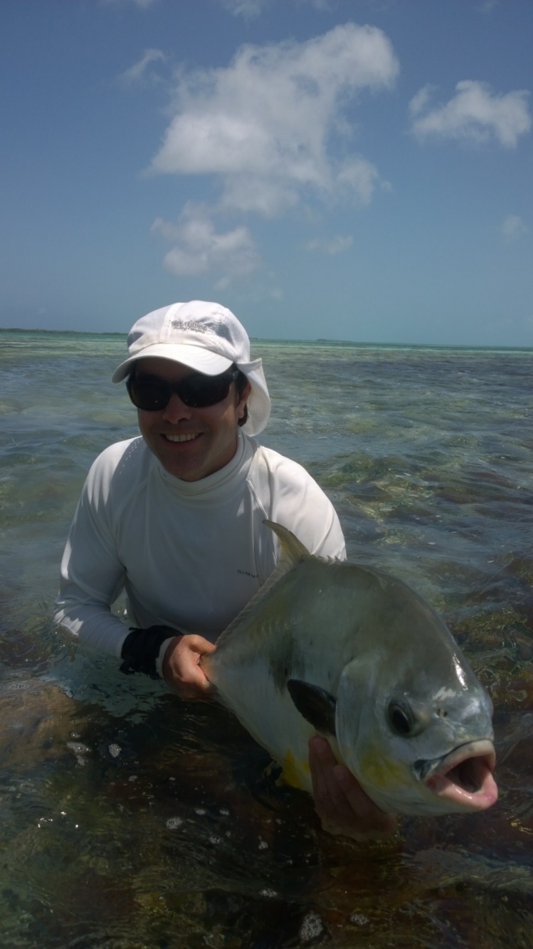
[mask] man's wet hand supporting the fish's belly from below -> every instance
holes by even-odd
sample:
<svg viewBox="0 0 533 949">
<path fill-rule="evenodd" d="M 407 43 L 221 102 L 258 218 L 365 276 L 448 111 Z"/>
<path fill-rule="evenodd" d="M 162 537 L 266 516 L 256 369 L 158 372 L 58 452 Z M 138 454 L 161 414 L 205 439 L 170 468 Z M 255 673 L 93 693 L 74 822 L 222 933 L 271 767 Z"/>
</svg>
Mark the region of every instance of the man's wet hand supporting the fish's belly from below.
<svg viewBox="0 0 533 949">
<path fill-rule="evenodd" d="M 371 801 L 353 774 L 337 763 L 329 742 L 320 735 L 309 740 L 309 765 L 315 809 L 324 830 L 358 841 L 394 832 L 395 814 L 385 813 Z"/>
</svg>

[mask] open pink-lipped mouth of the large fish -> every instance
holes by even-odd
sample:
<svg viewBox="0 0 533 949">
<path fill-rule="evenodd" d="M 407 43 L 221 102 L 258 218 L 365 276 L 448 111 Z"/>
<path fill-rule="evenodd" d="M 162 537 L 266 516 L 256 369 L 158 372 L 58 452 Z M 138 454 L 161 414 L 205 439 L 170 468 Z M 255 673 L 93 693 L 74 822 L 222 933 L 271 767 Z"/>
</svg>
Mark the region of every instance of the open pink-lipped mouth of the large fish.
<svg viewBox="0 0 533 949">
<path fill-rule="evenodd" d="M 494 745 L 487 738 L 469 741 L 434 761 L 417 761 L 414 769 L 426 788 L 461 810 L 486 810 L 498 800 L 492 776 Z"/>
</svg>

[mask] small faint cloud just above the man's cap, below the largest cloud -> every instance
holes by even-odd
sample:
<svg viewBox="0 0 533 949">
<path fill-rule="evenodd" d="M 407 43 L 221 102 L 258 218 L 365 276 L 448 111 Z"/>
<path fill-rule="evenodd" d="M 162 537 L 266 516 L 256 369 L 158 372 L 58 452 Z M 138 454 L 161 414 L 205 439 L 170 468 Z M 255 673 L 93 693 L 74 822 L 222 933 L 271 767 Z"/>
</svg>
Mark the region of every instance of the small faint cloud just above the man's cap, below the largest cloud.
<svg viewBox="0 0 533 949">
<path fill-rule="evenodd" d="M 222 271 L 227 283 L 231 277 L 245 276 L 260 265 L 248 228 L 241 225 L 217 233 L 206 209 L 197 205 L 186 205 L 177 224 L 157 217 L 152 232 L 174 244 L 163 264 L 176 276 Z"/>
</svg>

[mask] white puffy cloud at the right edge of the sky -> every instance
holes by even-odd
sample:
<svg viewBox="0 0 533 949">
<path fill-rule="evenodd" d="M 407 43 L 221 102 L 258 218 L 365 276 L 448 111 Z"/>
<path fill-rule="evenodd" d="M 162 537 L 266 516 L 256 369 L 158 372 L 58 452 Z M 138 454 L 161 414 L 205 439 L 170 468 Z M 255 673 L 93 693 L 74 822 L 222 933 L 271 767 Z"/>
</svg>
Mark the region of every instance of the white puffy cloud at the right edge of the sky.
<svg viewBox="0 0 533 949">
<path fill-rule="evenodd" d="M 492 92 L 487 83 L 463 80 L 445 105 L 430 107 L 432 87 L 425 86 L 410 103 L 412 131 L 418 140 L 431 137 L 485 142 L 494 137 L 505 148 L 514 148 L 531 128 L 524 89 L 505 94 Z"/>
</svg>

